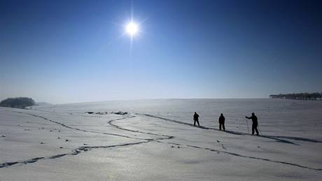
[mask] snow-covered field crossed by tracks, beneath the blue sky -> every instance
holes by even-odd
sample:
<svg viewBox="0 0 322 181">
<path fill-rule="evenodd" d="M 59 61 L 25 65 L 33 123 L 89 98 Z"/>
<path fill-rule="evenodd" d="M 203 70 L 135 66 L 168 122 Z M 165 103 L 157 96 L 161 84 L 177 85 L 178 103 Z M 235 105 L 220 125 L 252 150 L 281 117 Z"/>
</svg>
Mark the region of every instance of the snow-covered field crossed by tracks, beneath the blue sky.
<svg viewBox="0 0 322 181">
<path fill-rule="evenodd" d="M 128 114 L 112 113 L 118 111 Z M 195 111 L 201 127 L 193 126 Z M 252 112 L 262 136 L 248 135 L 244 117 Z M 218 131 L 221 113 L 226 132 Z M 321 133 L 322 101 L 168 99 L 0 108 L 0 180 L 321 180 Z"/>
</svg>

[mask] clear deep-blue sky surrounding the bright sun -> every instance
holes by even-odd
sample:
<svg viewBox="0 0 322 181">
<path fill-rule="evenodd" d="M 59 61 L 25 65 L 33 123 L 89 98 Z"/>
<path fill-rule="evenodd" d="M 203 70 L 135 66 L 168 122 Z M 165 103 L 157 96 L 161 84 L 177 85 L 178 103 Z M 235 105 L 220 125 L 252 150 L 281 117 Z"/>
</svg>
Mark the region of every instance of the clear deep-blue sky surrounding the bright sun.
<svg viewBox="0 0 322 181">
<path fill-rule="evenodd" d="M 0 1 L 1 100 L 321 91 L 322 1 Z"/>
</svg>

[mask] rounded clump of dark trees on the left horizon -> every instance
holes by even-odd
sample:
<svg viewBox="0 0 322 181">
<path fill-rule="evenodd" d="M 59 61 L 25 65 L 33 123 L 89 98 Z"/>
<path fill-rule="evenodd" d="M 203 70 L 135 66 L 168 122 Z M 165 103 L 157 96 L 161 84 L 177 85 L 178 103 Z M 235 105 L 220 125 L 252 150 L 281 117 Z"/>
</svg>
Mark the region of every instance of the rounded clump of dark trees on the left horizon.
<svg viewBox="0 0 322 181">
<path fill-rule="evenodd" d="M 10 108 L 26 108 L 27 106 L 34 106 L 35 101 L 28 97 L 8 98 L 0 102 L 1 107 Z"/>
</svg>

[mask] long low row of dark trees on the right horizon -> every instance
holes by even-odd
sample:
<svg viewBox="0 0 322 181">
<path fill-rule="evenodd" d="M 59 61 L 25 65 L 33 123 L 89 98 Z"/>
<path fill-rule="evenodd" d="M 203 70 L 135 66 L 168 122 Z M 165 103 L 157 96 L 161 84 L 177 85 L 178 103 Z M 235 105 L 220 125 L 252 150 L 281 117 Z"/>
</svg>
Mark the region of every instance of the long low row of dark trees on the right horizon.
<svg viewBox="0 0 322 181">
<path fill-rule="evenodd" d="M 269 95 L 270 98 L 279 98 L 279 99 L 297 99 L 297 100 L 321 100 L 322 92 L 314 93 L 293 93 L 293 94 L 276 94 Z"/>
</svg>

